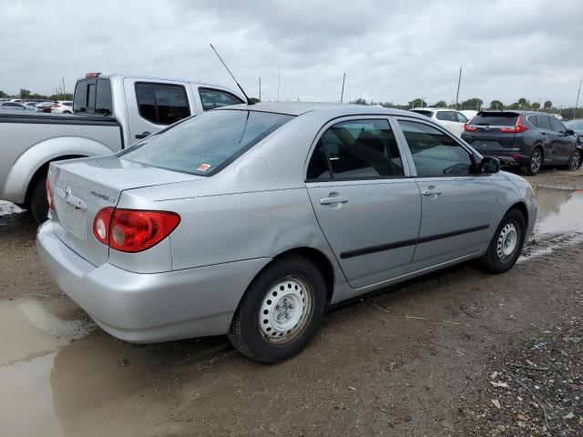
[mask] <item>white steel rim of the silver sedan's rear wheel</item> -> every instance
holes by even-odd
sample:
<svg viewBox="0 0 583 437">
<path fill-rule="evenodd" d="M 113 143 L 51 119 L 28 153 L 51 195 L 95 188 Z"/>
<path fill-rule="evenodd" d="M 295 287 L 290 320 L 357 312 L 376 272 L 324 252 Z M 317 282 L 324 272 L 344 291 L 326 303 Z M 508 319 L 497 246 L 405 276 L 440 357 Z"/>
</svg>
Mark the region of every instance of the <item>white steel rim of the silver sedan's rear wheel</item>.
<svg viewBox="0 0 583 437">
<path fill-rule="evenodd" d="M 259 310 L 263 340 L 285 346 L 296 340 L 312 315 L 312 290 L 306 282 L 291 276 L 281 279 L 265 294 Z"/>
</svg>

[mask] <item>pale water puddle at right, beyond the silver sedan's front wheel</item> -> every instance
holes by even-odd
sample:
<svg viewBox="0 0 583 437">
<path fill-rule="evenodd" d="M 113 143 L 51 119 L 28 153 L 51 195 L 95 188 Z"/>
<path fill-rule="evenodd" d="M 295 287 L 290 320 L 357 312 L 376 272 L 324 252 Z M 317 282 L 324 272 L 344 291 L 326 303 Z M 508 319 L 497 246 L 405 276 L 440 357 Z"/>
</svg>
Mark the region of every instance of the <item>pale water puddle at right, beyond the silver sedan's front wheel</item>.
<svg viewBox="0 0 583 437">
<path fill-rule="evenodd" d="M 537 188 L 538 217 L 524 261 L 583 242 L 583 189 Z"/>
</svg>

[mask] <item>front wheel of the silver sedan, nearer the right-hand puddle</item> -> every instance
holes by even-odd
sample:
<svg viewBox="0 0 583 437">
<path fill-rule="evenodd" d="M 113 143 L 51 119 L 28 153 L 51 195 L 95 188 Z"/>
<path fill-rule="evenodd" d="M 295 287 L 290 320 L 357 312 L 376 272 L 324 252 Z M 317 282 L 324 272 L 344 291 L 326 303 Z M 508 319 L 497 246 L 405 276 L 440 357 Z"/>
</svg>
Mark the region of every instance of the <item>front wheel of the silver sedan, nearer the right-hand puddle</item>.
<svg viewBox="0 0 583 437">
<path fill-rule="evenodd" d="M 507 242 L 508 229 L 514 228 L 517 233 L 516 244 L 511 253 L 506 254 L 505 243 Z M 516 264 L 522 247 L 525 244 L 527 223 L 525 216 L 517 208 L 512 208 L 500 221 L 498 228 L 490 241 L 486 254 L 481 259 L 482 267 L 489 273 L 504 273 Z M 505 233 L 506 239 L 503 235 Z"/>
</svg>

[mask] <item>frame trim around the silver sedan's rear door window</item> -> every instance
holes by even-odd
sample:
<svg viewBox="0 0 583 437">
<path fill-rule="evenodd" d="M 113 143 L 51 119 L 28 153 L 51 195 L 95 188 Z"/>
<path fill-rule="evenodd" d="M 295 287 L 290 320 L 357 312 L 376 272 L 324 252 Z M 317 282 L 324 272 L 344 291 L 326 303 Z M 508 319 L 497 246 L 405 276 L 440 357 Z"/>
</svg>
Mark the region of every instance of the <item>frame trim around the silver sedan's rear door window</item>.
<svg viewBox="0 0 583 437">
<path fill-rule="evenodd" d="M 425 117 L 425 116 L 423 116 Z M 314 139 L 312 140 L 312 145 L 308 149 L 308 154 L 306 156 L 304 165 L 303 165 L 303 181 L 306 184 L 313 184 L 313 183 L 329 183 L 329 182 L 358 182 L 358 181 L 370 181 L 370 180 L 392 180 L 392 179 L 405 179 L 405 178 L 413 178 L 413 172 L 411 171 L 411 166 L 409 164 L 409 156 L 404 155 L 403 144 L 399 140 L 397 132 L 394 128 L 394 123 L 392 122 L 392 116 L 381 115 L 381 114 L 359 114 L 359 115 L 352 115 L 352 116 L 339 116 L 333 117 L 329 119 L 326 123 L 320 127 Z M 312 159 L 312 155 L 320 138 L 323 136 L 324 132 L 328 130 L 329 127 L 337 123 L 342 123 L 344 121 L 354 121 L 354 120 L 372 120 L 372 119 L 381 119 L 387 120 L 389 123 L 389 127 L 393 131 L 394 140 L 396 142 L 397 148 L 399 149 L 399 154 L 401 158 L 401 162 L 403 163 L 403 172 L 404 175 L 397 175 L 397 176 L 369 176 L 369 177 L 362 177 L 362 178 L 334 178 L 334 173 L 332 171 L 332 166 L 330 165 L 330 159 L 328 158 L 328 151 L 326 147 L 324 147 L 324 154 L 326 155 L 326 160 L 328 163 L 328 171 L 330 172 L 331 178 L 322 178 L 322 179 L 309 179 L 308 178 L 308 167 L 310 165 L 310 160 Z"/>
</svg>

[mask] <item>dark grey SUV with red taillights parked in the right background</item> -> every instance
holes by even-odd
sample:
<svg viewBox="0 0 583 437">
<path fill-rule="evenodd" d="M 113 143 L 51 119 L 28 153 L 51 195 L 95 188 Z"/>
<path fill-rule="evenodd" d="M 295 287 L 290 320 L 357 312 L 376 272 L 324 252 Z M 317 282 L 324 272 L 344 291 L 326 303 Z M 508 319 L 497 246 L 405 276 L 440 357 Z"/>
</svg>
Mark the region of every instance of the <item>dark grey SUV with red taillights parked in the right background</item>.
<svg viewBox="0 0 583 437">
<path fill-rule="evenodd" d="M 483 111 L 465 125 L 462 139 L 527 175 L 536 175 L 544 165 L 570 170 L 581 165 L 583 150 L 573 130 L 543 112 Z"/>
</svg>

